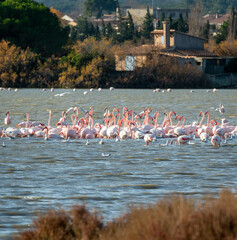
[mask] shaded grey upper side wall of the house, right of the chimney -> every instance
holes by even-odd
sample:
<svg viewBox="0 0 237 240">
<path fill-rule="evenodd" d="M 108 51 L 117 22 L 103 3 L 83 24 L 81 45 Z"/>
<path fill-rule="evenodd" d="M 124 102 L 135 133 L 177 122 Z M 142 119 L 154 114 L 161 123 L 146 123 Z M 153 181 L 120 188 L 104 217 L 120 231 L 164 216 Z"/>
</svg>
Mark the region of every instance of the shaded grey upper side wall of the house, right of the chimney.
<svg viewBox="0 0 237 240">
<path fill-rule="evenodd" d="M 204 49 L 204 39 L 189 36 L 179 32 L 174 32 L 174 45 L 177 49 Z"/>
</svg>

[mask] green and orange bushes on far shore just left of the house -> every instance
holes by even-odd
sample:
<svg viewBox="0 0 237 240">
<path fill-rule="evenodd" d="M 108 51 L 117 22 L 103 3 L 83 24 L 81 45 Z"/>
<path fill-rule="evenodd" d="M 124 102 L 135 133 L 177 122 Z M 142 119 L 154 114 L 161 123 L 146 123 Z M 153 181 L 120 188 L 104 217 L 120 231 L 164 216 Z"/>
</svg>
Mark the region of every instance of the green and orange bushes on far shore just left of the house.
<svg viewBox="0 0 237 240">
<path fill-rule="evenodd" d="M 60 68 L 59 85 L 62 87 L 109 86 L 109 73 L 114 70 L 111 42 L 97 42 L 94 38 L 77 42 L 72 51 L 61 59 Z"/>
</svg>

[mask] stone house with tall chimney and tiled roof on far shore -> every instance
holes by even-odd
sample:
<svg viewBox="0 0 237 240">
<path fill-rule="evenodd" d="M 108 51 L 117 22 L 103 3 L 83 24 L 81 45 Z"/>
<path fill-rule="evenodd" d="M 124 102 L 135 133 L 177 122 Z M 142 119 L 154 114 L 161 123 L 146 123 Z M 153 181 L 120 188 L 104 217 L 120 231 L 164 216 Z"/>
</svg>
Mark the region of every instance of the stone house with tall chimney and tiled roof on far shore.
<svg viewBox="0 0 237 240">
<path fill-rule="evenodd" d="M 163 22 L 163 30 L 154 30 L 151 34 L 154 36 L 154 45 L 130 49 L 125 57 L 116 57 L 117 71 L 133 71 L 135 67 L 141 67 L 141 63 L 144 63 L 146 57 L 152 52 L 176 58 L 181 65 L 196 65 L 207 74 L 224 73 L 225 66 L 231 59 L 218 57 L 206 51 L 204 49 L 205 39 L 170 29 L 166 21 Z"/>
</svg>

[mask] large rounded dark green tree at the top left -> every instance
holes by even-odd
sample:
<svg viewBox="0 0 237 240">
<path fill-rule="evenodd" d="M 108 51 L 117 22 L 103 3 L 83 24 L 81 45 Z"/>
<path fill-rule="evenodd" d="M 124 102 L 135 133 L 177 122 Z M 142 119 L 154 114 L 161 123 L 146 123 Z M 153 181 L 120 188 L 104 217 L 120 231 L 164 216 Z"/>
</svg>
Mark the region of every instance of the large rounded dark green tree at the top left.
<svg viewBox="0 0 237 240">
<path fill-rule="evenodd" d="M 33 0 L 0 2 L 0 40 L 5 39 L 43 56 L 57 54 L 68 40 L 69 28 L 56 15 Z"/>
</svg>

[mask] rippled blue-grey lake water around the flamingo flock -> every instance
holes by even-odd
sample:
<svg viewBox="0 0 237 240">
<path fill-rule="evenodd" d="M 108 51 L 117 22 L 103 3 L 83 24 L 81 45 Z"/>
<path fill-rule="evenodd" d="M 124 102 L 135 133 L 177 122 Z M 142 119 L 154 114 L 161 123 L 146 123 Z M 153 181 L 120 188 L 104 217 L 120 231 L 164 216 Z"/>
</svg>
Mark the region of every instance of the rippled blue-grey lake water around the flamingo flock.
<svg viewBox="0 0 237 240">
<path fill-rule="evenodd" d="M 49 90 L 20 89 L 0 91 L 0 125 L 5 127 L 5 112 L 10 111 L 12 126 L 30 114 L 31 120 L 47 124 L 52 110 L 55 125 L 63 110 L 79 106 L 94 108 L 94 121 L 102 123 L 104 108 L 122 111 L 126 106 L 135 112 L 150 107 L 160 112 L 174 110 L 186 117 L 186 123 L 200 121 L 200 111 L 210 111 L 211 118 L 227 118 L 237 125 L 237 90 Z M 56 94 L 68 92 L 60 97 Z M 55 96 L 56 95 L 56 96 Z M 215 109 L 223 104 L 226 112 Z M 83 116 L 83 113 L 79 113 Z M 155 203 L 173 193 L 200 198 L 217 196 L 221 189 L 237 186 L 237 139 L 220 148 L 210 142 L 195 140 L 192 145 L 160 146 L 159 139 L 150 146 L 144 140 L 116 142 L 99 139 L 61 140 L 0 139 L 0 239 L 30 226 L 38 212 L 85 203 L 101 212 L 104 220 L 125 213 L 130 204 Z M 102 153 L 110 153 L 103 157 Z"/>
</svg>

